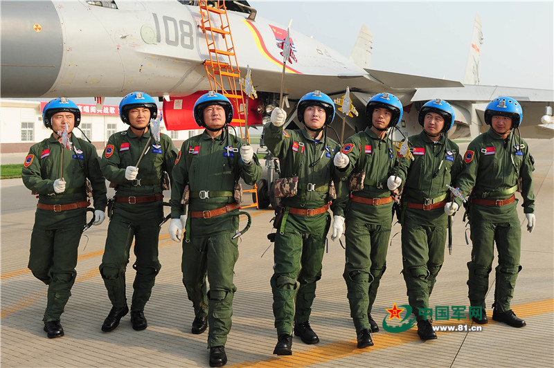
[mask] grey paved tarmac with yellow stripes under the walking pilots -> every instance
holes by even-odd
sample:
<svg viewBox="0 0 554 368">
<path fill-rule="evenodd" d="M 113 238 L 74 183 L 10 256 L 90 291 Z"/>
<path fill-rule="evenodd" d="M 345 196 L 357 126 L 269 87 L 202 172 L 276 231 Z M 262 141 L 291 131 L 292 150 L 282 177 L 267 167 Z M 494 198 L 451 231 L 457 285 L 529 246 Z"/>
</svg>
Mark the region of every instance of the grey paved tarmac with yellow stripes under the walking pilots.
<svg viewBox="0 0 554 368">
<path fill-rule="evenodd" d="M 434 325 L 461 331 L 439 331 L 437 340 L 422 341 L 416 328 L 391 332 L 400 326 L 389 318 L 393 304 L 408 304 L 406 286 L 400 274 L 400 225 L 395 223 L 388 248 L 387 270 L 382 278 L 373 318 L 380 331 L 373 334 L 375 345 L 357 349 L 356 334 L 343 280 L 344 250 L 330 240 L 323 258 L 323 277 L 317 284 L 310 324 L 318 333 L 319 344 L 293 340 L 293 355 L 272 354 L 277 335 L 271 310 L 273 248 L 267 240 L 271 232 L 272 210 L 249 208 L 251 229 L 239 244 L 235 266 L 238 291 L 233 302 L 233 328 L 226 344 L 226 367 L 553 367 L 554 365 L 554 140 L 529 139 L 535 158 L 537 226 L 526 230 L 521 220 L 521 265 L 512 300 L 512 309 L 527 326 L 515 329 L 492 320 L 494 270 L 487 296 L 490 322 L 482 331 L 467 319 L 467 261 L 471 245 L 469 226 L 462 214 L 454 217 L 452 255 L 445 263 L 431 295 Z M 462 151 L 467 143 L 460 144 Z M 13 157 L 11 157 L 13 156 Z M 23 163 L 25 154 L 1 155 L 2 163 Z M 263 164 L 263 163 L 262 163 Z M 117 329 L 100 330 L 111 304 L 98 273 L 107 234 L 108 221 L 84 232 L 72 296 L 62 315 L 65 335 L 48 339 L 42 330 L 46 306 L 46 286 L 27 268 L 30 233 L 37 199 L 20 178 L 0 181 L 1 190 L 1 272 L 0 272 L 0 364 L 2 367 L 208 367 L 207 332 L 193 335 L 192 303 L 181 282 L 181 244 L 168 235 L 168 223 L 161 228 L 159 259 L 161 271 L 150 302 L 145 308 L 148 329 L 134 331 L 129 315 Z M 113 194 L 113 192 L 109 192 Z M 168 193 L 166 193 L 166 198 Z M 245 198 L 248 200 L 249 195 Z M 517 198 L 521 196 L 517 194 Z M 166 209 L 168 213 L 168 209 Z M 90 214 L 89 214 L 90 216 Z M 241 222 L 244 226 L 244 221 Z M 268 249 L 269 248 L 269 249 Z M 134 255 L 130 264 L 134 263 Z M 493 267 L 496 266 L 493 264 Z M 130 300 L 134 270 L 127 267 L 127 297 Z M 441 319 L 437 306 L 465 306 L 461 319 Z M 401 313 L 401 317 L 404 318 Z M 386 330 L 384 322 L 389 326 Z"/>
</svg>

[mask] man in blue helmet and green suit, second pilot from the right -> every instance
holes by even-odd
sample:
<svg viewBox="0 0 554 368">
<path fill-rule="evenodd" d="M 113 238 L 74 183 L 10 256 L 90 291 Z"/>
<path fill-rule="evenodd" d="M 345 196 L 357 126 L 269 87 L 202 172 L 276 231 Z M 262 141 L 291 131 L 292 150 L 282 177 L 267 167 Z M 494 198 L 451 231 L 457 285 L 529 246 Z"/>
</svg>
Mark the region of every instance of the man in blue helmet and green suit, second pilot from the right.
<svg viewBox="0 0 554 368">
<path fill-rule="evenodd" d="M 422 340 L 436 339 L 431 326 L 429 297 L 445 259 L 450 201 L 446 185 L 452 185 L 462 168 L 458 145 L 447 138 L 454 124 L 454 109 L 444 100 L 423 105 L 418 117 L 423 131 L 409 137 L 413 160 L 402 158 L 398 176 L 388 178 L 389 190 L 402 189 L 402 273 L 409 304 L 418 320 Z"/>
</svg>

